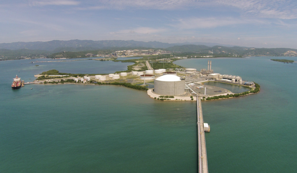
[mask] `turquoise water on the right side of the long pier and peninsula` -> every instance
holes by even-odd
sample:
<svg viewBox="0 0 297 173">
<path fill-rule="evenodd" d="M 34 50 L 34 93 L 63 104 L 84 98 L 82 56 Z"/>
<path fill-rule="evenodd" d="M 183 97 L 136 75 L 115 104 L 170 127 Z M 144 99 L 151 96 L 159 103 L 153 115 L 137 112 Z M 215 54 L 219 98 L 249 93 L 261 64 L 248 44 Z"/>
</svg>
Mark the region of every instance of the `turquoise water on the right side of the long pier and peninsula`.
<svg viewBox="0 0 297 173">
<path fill-rule="evenodd" d="M 270 59 L 297 57 L 271 57 Z M 207 67 L 261 85 L 258 94 L 202 102 L 209 172 L 296 172 L 297 64 L 269 57 L 178 60 L 189 68 Z"/>
</svg>

